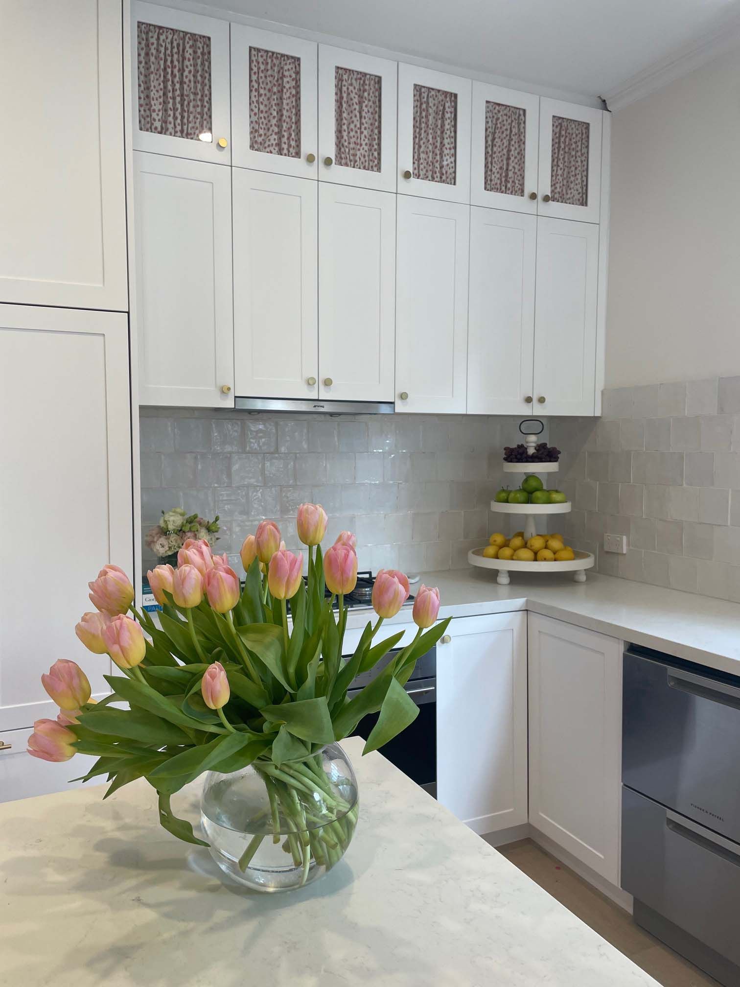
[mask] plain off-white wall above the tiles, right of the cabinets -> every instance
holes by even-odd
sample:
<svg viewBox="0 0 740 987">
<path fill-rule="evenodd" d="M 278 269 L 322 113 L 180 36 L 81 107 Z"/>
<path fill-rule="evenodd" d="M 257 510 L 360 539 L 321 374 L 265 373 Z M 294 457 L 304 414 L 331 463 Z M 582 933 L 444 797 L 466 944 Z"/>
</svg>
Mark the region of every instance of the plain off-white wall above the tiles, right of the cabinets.
<svg viewBox="0 0 740 987">
<path fill-rule="evenodd" d="M 614 114 L 606 386 L 740 374 L 740 52 Z"/>
</svg>

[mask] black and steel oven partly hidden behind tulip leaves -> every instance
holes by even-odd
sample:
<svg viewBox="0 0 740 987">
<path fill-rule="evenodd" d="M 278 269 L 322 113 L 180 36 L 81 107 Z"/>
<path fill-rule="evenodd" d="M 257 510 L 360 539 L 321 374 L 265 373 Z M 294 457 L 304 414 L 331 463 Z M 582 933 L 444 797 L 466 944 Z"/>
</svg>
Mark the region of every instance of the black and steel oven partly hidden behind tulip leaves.
<svg viewBox="0 0 740 987">
<path fill-rule="evenodd" d="M 371 682 L 395 657 L 401 648 L 389 651 L 386 657 L 368 672 L 358 675 L 347 691 L 352 699 Z M 416 719 L 397 737 L 381 748 L 384 757 L 395 764 L 412 781 L 431 796 L 437 795 L 437 651 L 430 648 L 416 662 L 405 689 L 419 708 Z M 367 739 L 378 721 L 378 714 L 363 717 L 356 732 Z"/>
</svg>

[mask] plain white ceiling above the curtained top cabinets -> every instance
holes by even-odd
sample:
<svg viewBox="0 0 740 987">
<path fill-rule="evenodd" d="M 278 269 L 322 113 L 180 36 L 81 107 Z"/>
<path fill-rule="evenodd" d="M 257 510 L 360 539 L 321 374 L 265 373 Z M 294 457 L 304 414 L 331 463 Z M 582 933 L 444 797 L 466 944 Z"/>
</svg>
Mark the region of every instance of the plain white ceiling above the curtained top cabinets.
<svg viewBox="0 0 740 987">
<path fill-rule="evenodd" d="M 740 0 L 200 0 L 582 96 L 612 93 L 716 32 Z"/>
</svg>

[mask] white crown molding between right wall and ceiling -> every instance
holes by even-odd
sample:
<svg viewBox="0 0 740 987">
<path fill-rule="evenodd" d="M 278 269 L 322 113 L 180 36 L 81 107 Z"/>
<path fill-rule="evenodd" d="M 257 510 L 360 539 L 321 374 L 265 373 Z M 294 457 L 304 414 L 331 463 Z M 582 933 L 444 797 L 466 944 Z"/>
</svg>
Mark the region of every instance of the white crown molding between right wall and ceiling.
<svg viewBox="0 0 740 987">
<path fill-rule="evenodd" d="M 650 93 L 689 75 L 695 69 L 740 46 L 740 15 L 725 18 L 720 27 L 676 48 L 671 54 L 635 73 L 619 88 L 605 95 L 613 112 L 623 110 Z"/>
</svg>

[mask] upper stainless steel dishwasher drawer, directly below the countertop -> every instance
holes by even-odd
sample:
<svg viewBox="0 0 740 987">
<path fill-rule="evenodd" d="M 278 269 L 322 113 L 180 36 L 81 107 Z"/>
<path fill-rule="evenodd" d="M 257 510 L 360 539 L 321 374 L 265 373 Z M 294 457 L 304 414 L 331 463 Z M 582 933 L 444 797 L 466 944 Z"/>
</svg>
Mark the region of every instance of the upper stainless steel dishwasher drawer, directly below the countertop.
<svg viewBox="0 0 740 987">
<path fill-rule="evenodd" d="M 740 843 L 740 680 L 627 650 L 622 740 L 625 785 Z"/>
</svg>

